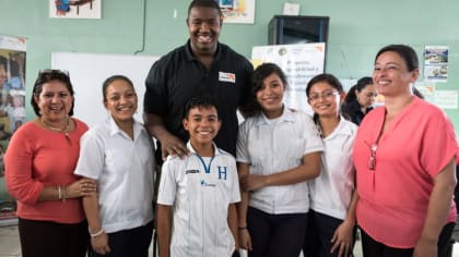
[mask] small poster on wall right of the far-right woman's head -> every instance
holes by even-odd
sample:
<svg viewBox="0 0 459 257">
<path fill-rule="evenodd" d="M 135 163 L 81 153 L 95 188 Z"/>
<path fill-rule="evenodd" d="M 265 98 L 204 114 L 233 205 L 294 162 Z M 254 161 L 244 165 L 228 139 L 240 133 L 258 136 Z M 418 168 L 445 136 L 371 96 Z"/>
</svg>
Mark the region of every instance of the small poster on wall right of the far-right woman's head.
<svg viewBox="0 0 459 257">
<path fill-rule="evenodd" d="M 426 46 L 424 51 L 424 78 L 447 82 L 448 73 L 448 47 Z"/>
</svg>

